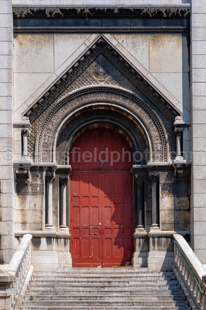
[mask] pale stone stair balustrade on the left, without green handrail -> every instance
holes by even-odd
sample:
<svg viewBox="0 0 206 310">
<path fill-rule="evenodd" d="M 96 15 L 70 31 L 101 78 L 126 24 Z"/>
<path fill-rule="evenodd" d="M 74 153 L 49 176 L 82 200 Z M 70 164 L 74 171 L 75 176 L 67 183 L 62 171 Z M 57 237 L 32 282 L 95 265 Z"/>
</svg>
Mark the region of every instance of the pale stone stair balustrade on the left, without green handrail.
<svg viewBox="0 0 206 310">
<path fill-rule="evenodd" d="M 23 286 L 31 266 L 32 235 L 23 236 L 6 271 L 0 270 L 0 309 L 12 310 L 17 306 Z"/>
</svg>

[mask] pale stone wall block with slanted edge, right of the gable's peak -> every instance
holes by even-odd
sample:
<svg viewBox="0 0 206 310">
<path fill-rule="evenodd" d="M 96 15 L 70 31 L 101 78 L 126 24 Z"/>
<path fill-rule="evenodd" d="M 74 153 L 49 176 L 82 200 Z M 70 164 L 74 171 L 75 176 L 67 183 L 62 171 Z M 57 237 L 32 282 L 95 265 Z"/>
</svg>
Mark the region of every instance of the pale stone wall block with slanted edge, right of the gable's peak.
<svg viewBox="0 0 206 310">
<path fill-rule="evenodd" d="M 149 71 L 149 34 L 113 34 L 118 42 Z"/>
</svg>

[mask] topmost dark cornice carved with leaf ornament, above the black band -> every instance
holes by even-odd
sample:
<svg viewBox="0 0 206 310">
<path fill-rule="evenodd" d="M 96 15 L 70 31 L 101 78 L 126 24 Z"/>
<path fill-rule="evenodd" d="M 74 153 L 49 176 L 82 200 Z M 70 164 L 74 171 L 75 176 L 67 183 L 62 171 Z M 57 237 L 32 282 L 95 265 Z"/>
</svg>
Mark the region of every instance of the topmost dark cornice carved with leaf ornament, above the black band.
<svg viewBox="0 0 206 310">
<path fill-rule="evenodd" d="M 187 7 L 174 8 L 124 8 L 124 7 L 59 7 L 57 8 L 25 8 L 13 7 L 13 15 L 16 18 L 39 18 L 39 17 L 162 17 L 162 18 L 185 18 L 190 17 L 191 9 Z"/>
</svg>

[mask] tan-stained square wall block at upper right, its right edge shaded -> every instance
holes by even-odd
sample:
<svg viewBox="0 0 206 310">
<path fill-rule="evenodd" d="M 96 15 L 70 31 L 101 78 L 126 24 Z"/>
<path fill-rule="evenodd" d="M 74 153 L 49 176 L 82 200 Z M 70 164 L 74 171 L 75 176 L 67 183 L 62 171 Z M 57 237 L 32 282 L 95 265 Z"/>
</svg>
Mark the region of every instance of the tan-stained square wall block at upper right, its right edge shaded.
<svg viewBox="0 0 206 310">
<path fill-rule="evenodd" d="M 149 34 L 150 72 L 189 72 L 188 55 L 185 36 L 181 34 Z"/>
</svg>

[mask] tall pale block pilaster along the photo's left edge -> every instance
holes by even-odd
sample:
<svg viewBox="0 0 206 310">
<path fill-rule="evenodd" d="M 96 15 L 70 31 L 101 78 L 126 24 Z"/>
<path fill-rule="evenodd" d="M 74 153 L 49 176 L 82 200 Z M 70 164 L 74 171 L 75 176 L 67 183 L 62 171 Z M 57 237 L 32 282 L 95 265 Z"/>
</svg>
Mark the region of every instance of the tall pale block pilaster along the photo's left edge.
<svg viewBox="0 0 206 310">
<path fill-rule="evenodd" d="M 13 19 L 12 1 L 0 12 L 0 263 L 9 263 L 15 250 L 15 192 L 13 172 Z"/>
</svg>

